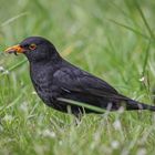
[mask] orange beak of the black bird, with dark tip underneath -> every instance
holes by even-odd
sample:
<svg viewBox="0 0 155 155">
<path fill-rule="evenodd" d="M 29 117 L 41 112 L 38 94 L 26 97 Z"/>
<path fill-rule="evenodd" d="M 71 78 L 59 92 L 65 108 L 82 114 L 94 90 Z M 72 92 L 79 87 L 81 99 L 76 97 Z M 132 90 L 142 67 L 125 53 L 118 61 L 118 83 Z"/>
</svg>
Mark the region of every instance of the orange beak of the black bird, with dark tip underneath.
<svg viewBox="0 0 155 155">
<path fill-rule="evenodd" d="M 20 44 L 13 45 L 11 48 L 8 48 L 4 52 L 7 53 L 23 53 L 24 49 L 20 46 Z"/>
</svg>

